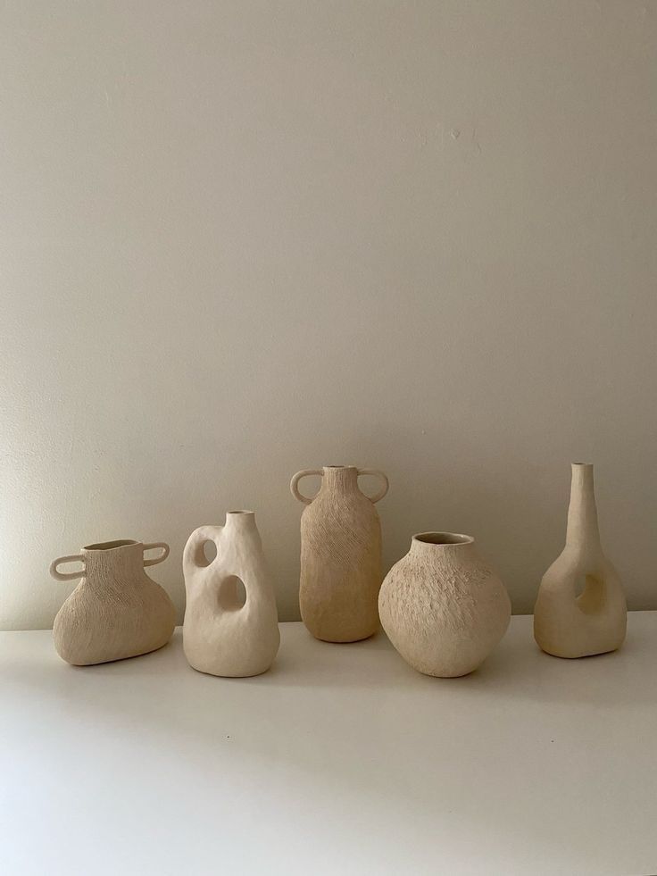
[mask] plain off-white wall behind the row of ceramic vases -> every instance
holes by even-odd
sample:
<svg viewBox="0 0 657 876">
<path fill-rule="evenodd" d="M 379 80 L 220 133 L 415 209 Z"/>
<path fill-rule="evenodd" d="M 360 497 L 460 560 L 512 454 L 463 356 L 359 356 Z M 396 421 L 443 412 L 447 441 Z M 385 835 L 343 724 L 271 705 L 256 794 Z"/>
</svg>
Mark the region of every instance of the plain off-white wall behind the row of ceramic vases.
<svg viewBox="0 0 657 876">
<path fill-rule="evenodd" d="M 387 565 L 470 532 L 529 612 L 570 462 L 657 608 L 657 4 L 10 0 L 0 625 L 49 561 L 385 469 Z"/>
</svg>

